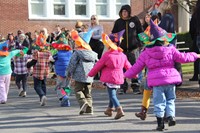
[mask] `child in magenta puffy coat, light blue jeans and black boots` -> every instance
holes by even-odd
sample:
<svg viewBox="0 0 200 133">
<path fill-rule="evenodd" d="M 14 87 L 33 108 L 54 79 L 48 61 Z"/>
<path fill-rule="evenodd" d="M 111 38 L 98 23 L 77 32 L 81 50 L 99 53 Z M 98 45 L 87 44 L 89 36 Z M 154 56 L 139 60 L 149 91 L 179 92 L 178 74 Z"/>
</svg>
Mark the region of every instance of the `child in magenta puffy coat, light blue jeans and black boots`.
<svg viewBox="0 0 200 133">
<path fill-rule="evenodd" d="M 168 119 L 168 126 L 174 126 L 175 121 L 175 87 L 181 83 L 181 76 L 174 68 L 175 62 L 187 63 L 200 57 L 196 53 L 180 53 L 175 47 L 168 47 L 175 34 L 167 33 L 150 21 L 150 41 L 148 36 L 142 38 L 146 41 L 146 49 L 140 54 L 136 63 L 125 73 L 125 77 L 132 78 L 145 66 L 148 69 L 147 84 L 153 88 L 154 114 L 157 118 L 158 131 L 163 131 L 164 115 Z M 147 38 L 147 39 L 146 39 Z M 141 38 L 140 38 L 141 40 Z M 142 41 L 144 41 L 142 40 Z"/>
</svg>

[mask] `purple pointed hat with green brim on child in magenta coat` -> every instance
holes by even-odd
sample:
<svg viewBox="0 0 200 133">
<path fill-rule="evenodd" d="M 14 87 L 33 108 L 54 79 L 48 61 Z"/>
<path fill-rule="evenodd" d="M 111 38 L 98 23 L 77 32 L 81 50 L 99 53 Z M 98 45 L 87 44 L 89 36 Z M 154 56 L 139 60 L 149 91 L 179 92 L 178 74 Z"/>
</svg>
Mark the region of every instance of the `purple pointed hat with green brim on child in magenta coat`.
<svg viewBox="0 0 200 133">
<path fill-rule="evenodd" d="M 170 42 L 174 39 L 175 36 L 176 34 L 167 33 L 164 29 L 159 27 L 152 20 L 150 20 L 150 27 L 148 27 L 144 33 L 138 34 L 139 39 L 146 46 L 154 45 L 157 40 L 163 41 L 163 42 Z"/>
</svg>

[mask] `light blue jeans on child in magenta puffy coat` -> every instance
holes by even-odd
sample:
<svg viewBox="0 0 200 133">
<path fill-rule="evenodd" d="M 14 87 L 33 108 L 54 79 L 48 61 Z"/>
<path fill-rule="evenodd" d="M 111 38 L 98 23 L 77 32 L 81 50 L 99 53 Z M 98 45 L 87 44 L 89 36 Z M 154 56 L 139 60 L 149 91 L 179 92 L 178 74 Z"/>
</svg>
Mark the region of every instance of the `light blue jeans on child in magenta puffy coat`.
<svg viewBox="0 0 200 133">
<path fill-rule="evenodd" d="M 153 87 L 154 114 L 156 117 L 175 117 L 175 85 Z"/>
</svg>

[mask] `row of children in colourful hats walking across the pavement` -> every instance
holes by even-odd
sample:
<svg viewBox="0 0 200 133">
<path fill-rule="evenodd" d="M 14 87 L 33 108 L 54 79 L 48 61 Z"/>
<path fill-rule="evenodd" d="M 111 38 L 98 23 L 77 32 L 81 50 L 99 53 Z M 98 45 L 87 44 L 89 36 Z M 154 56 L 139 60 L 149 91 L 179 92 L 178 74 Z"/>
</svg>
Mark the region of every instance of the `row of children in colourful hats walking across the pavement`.
<svg viewBox="0 0 200 133">
<path fill-rule="evenodd" d="M 156 130 L 162 131 L 165 128 L 164 116 L 168 120 L 168 125 L 174 126 L 176 124 L 175 87 L 176 84 L 182 82 L 180 74 L 174 68 L 174 63 L 192 62 L 200 58 L 200 55 L 192 52 L 180 53 L 168 43 L 175 37 L 175 34 L 167 33 L 151 21 L 150 34 L 144 32 L 139 35 L 145 48 L 133 66 L 127 60 L 123 50 L 116 45 L 120 42 L 118 33 L 112 35 L 102 34 L 102 42 L 107 51 L 98 60 L 97 53 L 92 51 L 89 45 L 93 30 L 82 33 L 81 37 L 77 31 L 71 31 L 71 37 L 76 44 L 73 52 L 64 37 L 60 37 L 59 41 L 52 44 L 58 50 L 53 59 L 55 60 L 55 71 L 58 75 L 56 90 L 57 94 L 61 93 L 61 97 L 59 97 L 59 100 L 63 103 L 61 105 L 66 104 L 66 106 L 69 106 L 68 97 L 64 98 L 68 94 L 62 92 L 63 90 L 66 92 L 64 88 L 68 87 L 68 83 L 72 78 L 75 81 L 74 91 L 80 106 L 79 114 L 93 114 L 91 84 L 93 76 L 101 72 L 100 81 L 107 87 L 109 97 L 108 107 L 104 114 L 111 117 L 113 111 L 116 111 L 114 119 L 120 119 L 125 113 L 117 98 L 116 91 L 123 84 L 125 77 L 135 78 L 146 67 L 148 70 L 147 85 L 153 91 L 154 114 L 158 124 Z M 38 50 L 33 52 L 29 67 L 33 66 L 34 89 L 40 97 L 41 106 L 44 106 L 47 100 L 46 78 L 51 54 L 45 49 L 47 45 L 42 36 L 38 38 L 36 46 Z M 0 102 L 4 104 L 7 101 L 10 84 L 10 59 L 18 53 L 20 53 L 20 58 L 26 56 L 24 49 L 24 52 L 13 50 L 8 53 L 6 42 L 0 44 L 0 48 Z M 15 58 L 18 57 L 15 56 Z M 127 70 L 125 73 L 123 68 Z M 24 73 L 20 74 L 24 75 Z M 20 86 L 18 87 L 20 89 Z M 26 86 L 23 85 L 23 88 L 25 92 Z M 148 94 L 150 95 L 150 93 Z"/>
</svg>

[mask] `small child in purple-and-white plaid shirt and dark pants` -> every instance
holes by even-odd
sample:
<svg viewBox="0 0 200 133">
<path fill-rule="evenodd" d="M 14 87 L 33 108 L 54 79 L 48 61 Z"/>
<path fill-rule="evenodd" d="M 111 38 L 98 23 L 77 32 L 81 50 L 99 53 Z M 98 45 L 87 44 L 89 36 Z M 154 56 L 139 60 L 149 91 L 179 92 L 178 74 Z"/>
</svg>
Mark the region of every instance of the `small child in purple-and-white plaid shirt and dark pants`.
<svg viewBox="0 0 200 133">
<path fill-rule="evenodd" d="M 27 55 L 28 48 L 27 47 L 17 47 L 16 49 L 23 49 L 24 55 L 17 54 L 14 57 L 14 73 L 15 73 L 15 83 L 19 90 L 19 96 L 26 97 L 26 90 L 27 90 L 27 74 L 28 69 L 26 63 L 31 55 Z M 22 85 L 21 82 L 22 81 Z M 22 88 L 21 88 L 22 86 Z"/>
</svg>

